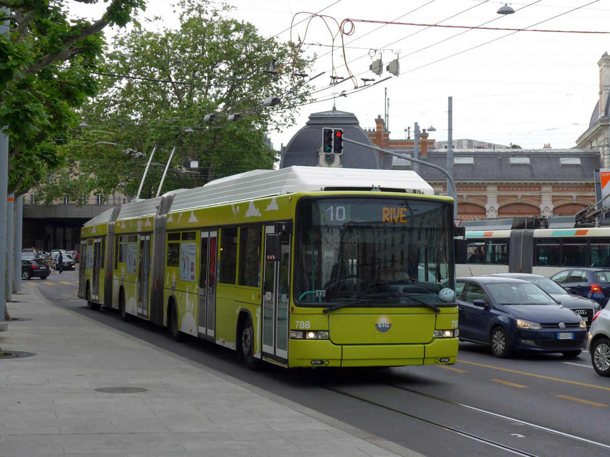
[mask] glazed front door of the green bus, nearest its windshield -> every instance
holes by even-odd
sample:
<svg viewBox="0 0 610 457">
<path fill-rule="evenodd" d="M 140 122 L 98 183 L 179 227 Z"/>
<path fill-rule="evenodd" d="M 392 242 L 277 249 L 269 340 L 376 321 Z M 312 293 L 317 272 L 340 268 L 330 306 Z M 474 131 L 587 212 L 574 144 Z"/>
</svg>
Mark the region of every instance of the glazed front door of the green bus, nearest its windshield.
<svg viewBox="0 0 610 457">
<path fill-rule="evenodd" d="M 265 227 L 265 247 L 274 226 Z M 282 233 L 281 256 L 268 260 L 265 248 L 265 272 L 263 282 L 263 354 L 270 358 L 288 359 L 288 306 L 290 296 L 290 234 Z"/>
</svg>

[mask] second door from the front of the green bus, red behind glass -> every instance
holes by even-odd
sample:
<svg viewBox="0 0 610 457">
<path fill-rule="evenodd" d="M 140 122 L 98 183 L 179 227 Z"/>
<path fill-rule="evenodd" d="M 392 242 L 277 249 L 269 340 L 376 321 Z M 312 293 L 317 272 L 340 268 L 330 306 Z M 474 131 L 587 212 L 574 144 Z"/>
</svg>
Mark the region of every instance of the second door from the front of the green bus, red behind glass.
<svg viewBox="0 0 610 457">
<path fill-rule="evenodd" d="M 199 338 L 214 341 L 216 310 L 216 253 L 218 232 L 201 232 L 199 250 Z"/>
</svg>

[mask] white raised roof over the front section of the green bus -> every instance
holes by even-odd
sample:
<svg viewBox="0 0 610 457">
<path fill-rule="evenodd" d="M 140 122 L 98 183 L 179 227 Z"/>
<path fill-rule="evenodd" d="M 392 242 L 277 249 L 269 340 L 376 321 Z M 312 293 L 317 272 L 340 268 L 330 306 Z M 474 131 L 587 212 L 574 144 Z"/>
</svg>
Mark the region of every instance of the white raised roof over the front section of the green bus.
<svg viewBox="0 0 610 457">
<path fill-rule="evenodd" d="M 279 170 L 253 170 L 210 181 L 203 187 L 177 193 L 170 211 L 239 202 L 326 188 L 354 190 L 381 186 L 406 193 L 434 195 L 432 186 L 414 171 L 291 166 Z"/>
</svg>

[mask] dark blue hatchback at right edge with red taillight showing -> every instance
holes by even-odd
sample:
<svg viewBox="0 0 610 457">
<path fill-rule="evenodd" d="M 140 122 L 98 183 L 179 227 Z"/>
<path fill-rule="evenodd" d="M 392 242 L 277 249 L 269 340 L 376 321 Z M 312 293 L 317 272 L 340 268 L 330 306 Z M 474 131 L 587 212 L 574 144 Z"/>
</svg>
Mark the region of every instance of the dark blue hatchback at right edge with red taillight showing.
<svg viewBox="0 0 610 457">
<path fill-rule="evenodd" d="M 610 298 L 610 269 L 570 268 L 554 274 L 551 279 L 573 294 L 595 300 L 602 308 Z"/>
</svg>

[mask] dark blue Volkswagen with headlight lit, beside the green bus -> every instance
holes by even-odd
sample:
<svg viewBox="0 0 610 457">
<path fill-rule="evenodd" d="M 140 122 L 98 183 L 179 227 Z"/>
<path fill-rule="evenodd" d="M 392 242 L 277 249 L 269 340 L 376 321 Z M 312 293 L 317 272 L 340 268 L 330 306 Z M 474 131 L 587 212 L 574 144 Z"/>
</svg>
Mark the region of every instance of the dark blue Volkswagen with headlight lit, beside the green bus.
<svg viewBox="0 0 610 457">
<path fill-rule="evenodd" d="M 456 280 L 459 339 L 489 344 L 500 358 L 519 351 L 578 356 L 587 346 L 587 325 L 528 281 L 493 276 Z"/>
</svg>

